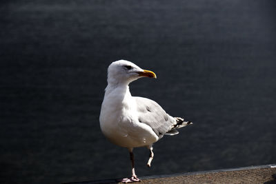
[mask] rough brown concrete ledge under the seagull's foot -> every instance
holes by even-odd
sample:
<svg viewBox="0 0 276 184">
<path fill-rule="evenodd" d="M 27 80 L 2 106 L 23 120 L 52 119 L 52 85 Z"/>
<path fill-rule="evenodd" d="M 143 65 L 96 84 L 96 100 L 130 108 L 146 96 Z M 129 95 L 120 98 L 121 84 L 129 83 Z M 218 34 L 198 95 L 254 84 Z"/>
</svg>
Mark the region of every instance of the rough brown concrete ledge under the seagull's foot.
<svg viewBox="0 0 276 184">
<path fill-rule="evenodd" d="M 276 183 L 276 164 L 141 177 L 140 183 Z M 116 179 L 66 184 L 119 183 Z"/>
</svg>

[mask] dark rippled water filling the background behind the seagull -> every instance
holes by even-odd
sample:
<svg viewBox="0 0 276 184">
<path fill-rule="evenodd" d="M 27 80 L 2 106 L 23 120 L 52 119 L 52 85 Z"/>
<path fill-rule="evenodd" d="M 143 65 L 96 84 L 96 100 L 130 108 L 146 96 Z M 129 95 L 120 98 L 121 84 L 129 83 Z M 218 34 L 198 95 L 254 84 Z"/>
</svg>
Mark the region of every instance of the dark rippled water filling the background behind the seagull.
<svg viewBox="0 0 276 184">
<path fill-rule="evenodd" d="M 276 163 L 275 1 L 0 3 L 0 183 L 130 175 L 99 130 L 111 61 L 157 80 L 130 85 L 194 125 L 135 149 L 137 174 Z"/>
</svg>

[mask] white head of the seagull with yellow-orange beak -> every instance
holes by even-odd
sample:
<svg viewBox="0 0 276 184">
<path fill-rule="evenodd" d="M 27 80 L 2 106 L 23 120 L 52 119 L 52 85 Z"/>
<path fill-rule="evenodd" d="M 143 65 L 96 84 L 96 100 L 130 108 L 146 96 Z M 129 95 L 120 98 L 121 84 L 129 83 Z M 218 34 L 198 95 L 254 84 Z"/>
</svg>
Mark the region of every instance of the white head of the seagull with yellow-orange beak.
<svg viewBox="0 0 276 184">
<path fill-rule="evenodd" d="M 108 83 L 110 84 L 126 83 L 128 85 L 144 76 L 156 79 L 154 72 L 143 70 L 130 61 L 114 61 L 108 67 Z"/>
</svg>

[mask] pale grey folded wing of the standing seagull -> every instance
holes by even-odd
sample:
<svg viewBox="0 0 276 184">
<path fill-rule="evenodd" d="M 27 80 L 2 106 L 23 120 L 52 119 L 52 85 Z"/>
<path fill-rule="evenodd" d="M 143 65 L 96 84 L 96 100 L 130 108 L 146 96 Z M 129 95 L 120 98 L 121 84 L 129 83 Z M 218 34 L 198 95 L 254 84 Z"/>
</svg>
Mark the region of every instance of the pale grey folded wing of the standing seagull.
<svg viewBox="0 0 276 184">
<path fill-rule="evenodd" d="M 161 138 L 167 132 L 177 134 L 178 132 L 170 132 L 172 127 L 177 123 L 176 119 L 167 114 L 161 106 L 150 99 L 134 96 L 137 102 L 138 118 L 140 123 L 149 125 L 152 130 Z"/>
</svg>

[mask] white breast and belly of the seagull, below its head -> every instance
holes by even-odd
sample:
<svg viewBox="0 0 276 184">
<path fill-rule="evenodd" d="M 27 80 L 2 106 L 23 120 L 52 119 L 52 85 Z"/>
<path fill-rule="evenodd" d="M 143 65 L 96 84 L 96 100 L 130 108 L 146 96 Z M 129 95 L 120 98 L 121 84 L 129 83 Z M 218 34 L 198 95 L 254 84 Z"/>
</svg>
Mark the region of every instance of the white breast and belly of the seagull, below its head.
<svg viewBox="0 0 276 184">
<path fill-rule="evenodd" d="M 139 123 L 136 110 L 136 101 L 128 88 L 106 90 L 99 121 L 101 131 L 110 142 L 121 147 L 141 147 L 158 140 L 151 127 Z"/>
</svg>

